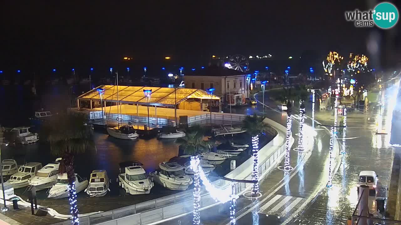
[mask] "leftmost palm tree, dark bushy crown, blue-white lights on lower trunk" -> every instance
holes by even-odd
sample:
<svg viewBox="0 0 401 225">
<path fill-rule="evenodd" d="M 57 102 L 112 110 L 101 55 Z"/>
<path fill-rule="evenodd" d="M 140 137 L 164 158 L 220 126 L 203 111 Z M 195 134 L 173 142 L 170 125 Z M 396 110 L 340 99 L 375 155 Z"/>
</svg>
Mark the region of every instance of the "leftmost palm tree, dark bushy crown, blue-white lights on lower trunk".
<svg viewBox="0 0 401 225">
<path fill-rule="evenodd" d="M 92 127 L 88 126 L 84 114 L 63 113 L 45 121 L 41 127 L 40 137 L 50 145 L 53 155 L 63 157 L 59 173 L 67 173 L 69 201 L 73 225 L 79 225 L 77 199 L 75 193 L 74 156 L 84 153 L 94 146 Z"/>
</svg>

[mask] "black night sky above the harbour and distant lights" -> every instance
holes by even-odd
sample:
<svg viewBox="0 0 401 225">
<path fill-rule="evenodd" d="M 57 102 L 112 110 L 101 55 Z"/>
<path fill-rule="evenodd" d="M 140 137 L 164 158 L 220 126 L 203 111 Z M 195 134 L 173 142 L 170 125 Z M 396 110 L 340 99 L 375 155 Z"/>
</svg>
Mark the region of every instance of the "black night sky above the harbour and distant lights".
<svg viewBox="0 0 401 225">
<path fill-rule="evenodd" d="M 211 54 L 346 55 L 365 53 L 373 30 L 344 19 L 344 11 L 366 9 L 368 1 L 109 2 L 4 1 L 0 69 L 106 68 L 124 56 L 140 62 L 166 55 L 194 61 Z M 398 47 L 399 32 L 392 32 Z"/>
</svg>

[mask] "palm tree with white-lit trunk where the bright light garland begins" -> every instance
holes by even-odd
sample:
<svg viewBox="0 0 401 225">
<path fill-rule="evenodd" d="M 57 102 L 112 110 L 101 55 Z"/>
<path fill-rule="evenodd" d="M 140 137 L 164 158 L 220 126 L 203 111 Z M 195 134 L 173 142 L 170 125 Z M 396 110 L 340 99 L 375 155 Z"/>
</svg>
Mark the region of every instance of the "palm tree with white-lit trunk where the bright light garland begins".
<svg viewBox="0 0 401 225">
<path fill-rule="evenodd" d="M 194 171 L 194 211 L 193 211 L 193 222 L 194 224 L 200 224 L 201 215 L 199 208 L 201 207 L 201 183 L 200 183 L 200 172 L 199 172 L 199 153 L 209 151 L 211 148 L 211 142 L 205 140 L 205 129 L 200 126 L 195 126 L 189 129 L 185 133 L 185 137 L 176 139 L 175 143 L 179 144 L 187 155 L 192 155 L 192 162 L 196 162 L 192 168 Z"/>
</svg>

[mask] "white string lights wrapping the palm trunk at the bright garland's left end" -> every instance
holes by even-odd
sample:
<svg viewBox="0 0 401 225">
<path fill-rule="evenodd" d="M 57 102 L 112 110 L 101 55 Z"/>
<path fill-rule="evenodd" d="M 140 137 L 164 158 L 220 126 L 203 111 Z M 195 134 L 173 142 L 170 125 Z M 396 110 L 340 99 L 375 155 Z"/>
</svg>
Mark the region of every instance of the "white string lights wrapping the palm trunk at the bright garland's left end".
<svg viewBox="0 0 401 225">
<path fill-rule="evenodd" d="M 192 213 L 192 221 L 194 225 L 199 225 L 201 223 L 201 214 L 199 212 L 199 209 L 201 208 L 201 182 L 199 163 L 200 161 L 198 156 L 191 156 L 191 169 L 192 171 L 194 171 L 194 211 Z"/>
</svg>

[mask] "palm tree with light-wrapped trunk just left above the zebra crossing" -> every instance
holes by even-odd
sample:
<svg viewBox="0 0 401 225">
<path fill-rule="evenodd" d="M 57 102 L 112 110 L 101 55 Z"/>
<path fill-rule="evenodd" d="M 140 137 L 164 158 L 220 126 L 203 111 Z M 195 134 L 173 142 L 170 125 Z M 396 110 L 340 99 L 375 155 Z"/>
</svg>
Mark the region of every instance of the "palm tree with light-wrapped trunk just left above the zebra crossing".
<svg viewBox="0 0 401 225">
<path fill-rule="evenodd" d="M 252 136 L 252 153 L 253 153 L 253 171 L 252 178 L 257 183 L 253 184 L 252 196 L 255 197 L 259 192 L 259 161 L 258 161 L 258 151 L 259 151 L 259 134 L 266 132 L 269 129 L 269 125 L 263 122 L 265 117 L 253 115 L 245 117 L 243 120 L 243 128 Z"/>
</svg>

